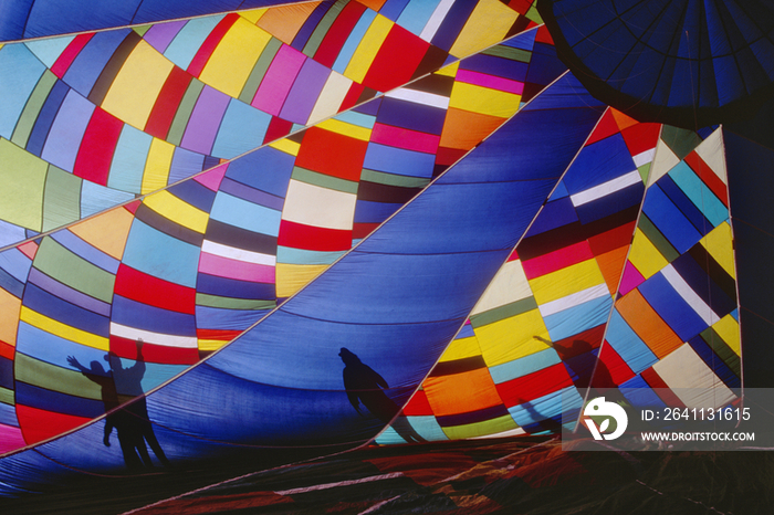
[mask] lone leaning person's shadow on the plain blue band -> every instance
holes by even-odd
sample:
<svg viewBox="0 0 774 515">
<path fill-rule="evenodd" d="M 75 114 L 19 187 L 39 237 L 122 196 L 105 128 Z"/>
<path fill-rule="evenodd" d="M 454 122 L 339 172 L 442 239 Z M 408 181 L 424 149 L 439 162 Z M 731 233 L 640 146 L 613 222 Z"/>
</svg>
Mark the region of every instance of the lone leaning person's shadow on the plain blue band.
<svg viewBox="0 0 774 515">
<path fill-rule="evenodd" d="M 374 417 L 385 424 L 393 423 L 393 429 L 406 442 L 423 442 L 405 417 L 397 417 L 400 407 L 390 399 L 384 389 L 389 388 L 387 381 L 349 349 L 342 347 L 338 356 L 344 361 L 344 389 L 355 411 L 362 417 L 366 413 L 360 409 L 360 403 Z"/>
</svg>

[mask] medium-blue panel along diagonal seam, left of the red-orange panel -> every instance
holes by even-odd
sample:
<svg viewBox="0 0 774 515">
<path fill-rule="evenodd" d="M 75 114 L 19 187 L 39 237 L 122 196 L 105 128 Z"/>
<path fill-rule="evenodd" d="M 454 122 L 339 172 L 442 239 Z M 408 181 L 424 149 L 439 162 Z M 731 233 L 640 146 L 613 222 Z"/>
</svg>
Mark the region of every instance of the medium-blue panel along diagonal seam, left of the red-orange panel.
<svg viewBox="0 0 774 515">
<path fill-rule="evenodd" d="M 284 199 L 294 162 L 295 156 L 263 147 L 230 162 L 226 177 Z"/>
</svg>

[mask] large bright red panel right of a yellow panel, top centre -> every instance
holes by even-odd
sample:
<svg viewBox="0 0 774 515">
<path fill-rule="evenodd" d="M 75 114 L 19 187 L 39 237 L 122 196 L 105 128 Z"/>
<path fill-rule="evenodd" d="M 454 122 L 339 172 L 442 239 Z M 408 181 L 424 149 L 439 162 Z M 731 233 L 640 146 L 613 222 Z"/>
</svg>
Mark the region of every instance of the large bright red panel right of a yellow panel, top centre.
<svg viewBox="0 0 774 515">
<path fill-rule="evenodd" d="M 368 69 L 363 84 L 376 91 L 394 90 L 411 80 L 430 43 L 400 25 L 393 25 Z"/>
</svg>

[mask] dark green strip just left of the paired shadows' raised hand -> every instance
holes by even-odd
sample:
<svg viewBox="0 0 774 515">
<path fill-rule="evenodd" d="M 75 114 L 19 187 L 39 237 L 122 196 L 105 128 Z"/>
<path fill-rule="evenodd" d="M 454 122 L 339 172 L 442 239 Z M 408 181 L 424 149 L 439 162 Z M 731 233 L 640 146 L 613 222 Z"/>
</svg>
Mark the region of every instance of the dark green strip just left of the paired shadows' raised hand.
<svg viewBox="0 0 774 515">
<path fill-rule="evenodd" d="M 70 396 L 102 400 L 102 387 L 79 371 L 67 370 L 21 353 L 17 353 L 13 370 L 18 381 Z"/>
</svg>

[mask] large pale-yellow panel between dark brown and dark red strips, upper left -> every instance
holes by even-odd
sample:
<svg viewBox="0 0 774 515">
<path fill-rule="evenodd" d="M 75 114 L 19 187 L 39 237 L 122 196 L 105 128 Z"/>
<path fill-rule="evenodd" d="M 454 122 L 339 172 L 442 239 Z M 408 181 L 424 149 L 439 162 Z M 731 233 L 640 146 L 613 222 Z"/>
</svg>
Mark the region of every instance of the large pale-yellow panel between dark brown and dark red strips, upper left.
<svg viewBox="0 0 774 515">
<path fill-rule="evenodd" d="M 172 67 L 174 64 L 164 55 L 145 40 L 140 41 L 113 81 L 102 108 L 144 129 Z"/>
</svg>

